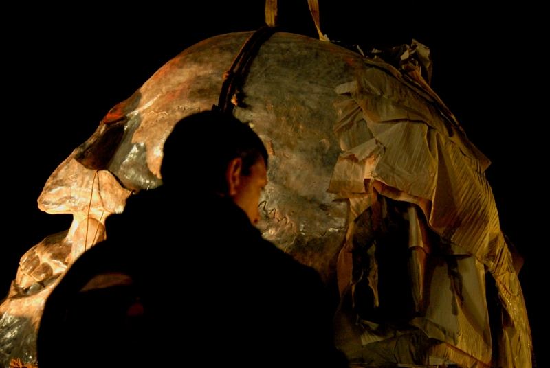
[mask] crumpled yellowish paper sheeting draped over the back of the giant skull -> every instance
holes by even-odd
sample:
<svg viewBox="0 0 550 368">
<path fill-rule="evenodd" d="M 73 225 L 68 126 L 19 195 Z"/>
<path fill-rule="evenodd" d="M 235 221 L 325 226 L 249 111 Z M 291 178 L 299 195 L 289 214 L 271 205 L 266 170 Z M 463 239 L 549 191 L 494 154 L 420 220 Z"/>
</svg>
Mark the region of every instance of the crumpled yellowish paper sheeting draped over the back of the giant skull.
<svg viewBox="0 0 550 368">
<path fill-rule="evenodd" d="M 508 316 L 503 341 L 499 341 L 502 352 L 498 364 L 530 367 L 531 334 L 525 303 L 483 174 L 489 161 L 467 140 L 431 89 L 412 84 L 391 65 L 369 62 L 377 67 L 358 71 L 355 81 L 336 87 L 336 92 L 349 96 L 349 100 L 335 104 L 339 119 L 334 131 L 344 153 L 338 158 L 328 191 L 349 198 L 350 231 L 360 211 L 374 203 L 373 191 L 369 191 L 374 187 L 377 194 L 416 205 L 430 229 L 463 249 L 464 254 L 474 255 L 461 260 L 459 269 L 478 295 L 462 301 L 454 313 L 445 313 L 450 300 L 438 300 L 453 295 L 431 295 L 432 310 L 411 322 L 429 337 L 445 341 L 447 345 L 432 347 L 434 355 L 437 352 L 440 357 L 453 358 L 465 367 L 471 367 L 472 362 L 490 364 L 483 277 L 487 268 L 496 279 Z M 338 272 L 341 292 L 350 282 L 346 276 L 350 260 L 350 253 L 342 251 Z M 437 272 L 441 277 L 432 278 L 431 290 L 449 290 L 445 284 L 448 278 L 444 277 L 447 271 L 441 268 Z"/>
</svg>

